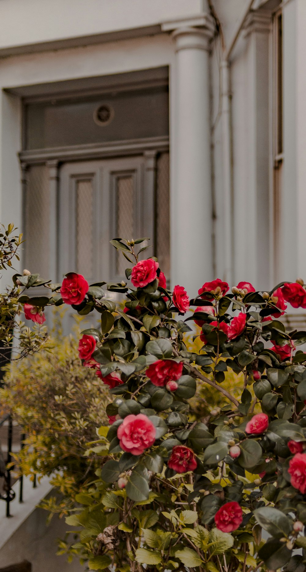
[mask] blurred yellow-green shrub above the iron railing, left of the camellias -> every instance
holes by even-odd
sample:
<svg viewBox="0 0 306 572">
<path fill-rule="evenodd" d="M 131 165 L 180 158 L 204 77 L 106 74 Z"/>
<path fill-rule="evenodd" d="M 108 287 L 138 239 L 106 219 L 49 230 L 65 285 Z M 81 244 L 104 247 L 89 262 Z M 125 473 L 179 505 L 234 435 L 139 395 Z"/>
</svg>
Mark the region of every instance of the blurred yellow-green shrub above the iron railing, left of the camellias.
<svg viewBox="0 0 306 572">
<path fill-rule="evenodd" d="M 96 428 L 108 424 L 108 386 L 82 367 L 77 339 L 51 338 L 42 351 L 7 367 L 0 408 L 10 411 L 26 434 L 19 463 L 24 474 L 63 471 L 67 484 L 93 476 L 84 452 L 97 439 Z M 87 474 L 87 475 L 86 475 Z"/>
</svg>

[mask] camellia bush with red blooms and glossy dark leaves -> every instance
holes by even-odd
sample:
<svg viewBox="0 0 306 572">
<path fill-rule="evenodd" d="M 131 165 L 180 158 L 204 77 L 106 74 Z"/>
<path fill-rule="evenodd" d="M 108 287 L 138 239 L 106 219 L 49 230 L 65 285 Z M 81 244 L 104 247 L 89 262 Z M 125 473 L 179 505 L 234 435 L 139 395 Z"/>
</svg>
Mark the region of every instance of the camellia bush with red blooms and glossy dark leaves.
<svg viewBox="0 0 306 572">
<path fill-rule="evenodd" d="M 70 550 L 89 570 L 303 572 L 306 332 L 281 321 L 287 304 L 306 308 L 303 280 L 256 292 L 217 279 L 189 300 L 157 259 L 138 260 L 144 240 L 112 241 L 129 261 L 127 282 L 106 284 L 123 310 L 76 273 L 49 284 L 50 299 L 22 299 L 31 320 L 54 303 L 101 314 L 78 351 L 113 401 L 89 445 L 100 466 L 67 517 L 79 530 Z M 185 343 L 194 323 L 197 352 Z M 243 378 L 238 398 L 222 385 L 228 371 Z M 225 403 L 205 423 L 190 419 L 197 380 Z"/>
</svg>

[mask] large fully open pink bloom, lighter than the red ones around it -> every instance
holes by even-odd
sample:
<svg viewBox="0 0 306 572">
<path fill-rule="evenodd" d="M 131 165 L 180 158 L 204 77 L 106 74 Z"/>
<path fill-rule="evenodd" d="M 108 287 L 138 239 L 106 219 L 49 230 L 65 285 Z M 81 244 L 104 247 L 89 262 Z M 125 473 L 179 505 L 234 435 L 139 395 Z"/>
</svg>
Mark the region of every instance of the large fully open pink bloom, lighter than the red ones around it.
<svg viewBox="0 0 306 572">
<path fill-rule="evenodd" d="M 120 447 L 132 455 L 141 455 L 155 441 L 156 429 L 146 415 L 128 415 L 118 427 Z"/>
</svg>

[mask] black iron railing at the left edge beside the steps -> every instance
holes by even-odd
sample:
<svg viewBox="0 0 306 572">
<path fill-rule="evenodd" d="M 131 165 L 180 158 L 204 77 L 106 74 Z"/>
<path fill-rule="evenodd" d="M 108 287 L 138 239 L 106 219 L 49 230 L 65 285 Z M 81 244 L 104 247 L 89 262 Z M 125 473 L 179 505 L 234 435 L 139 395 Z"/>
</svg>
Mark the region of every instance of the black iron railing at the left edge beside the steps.
<svg viewBox="0 0 306 572">
<path fill-rule="evenodd" d="M 0 500 L 5 501 L 6 502 L 6 517 L 11 517 L 10 514 L 10 503 L 11 501 L 14 501 L 14 498 L 16 496 L 15 491 L 12 488 L 12 478 L 11 478 L 11 471 L 14 470 L 13 466 L 10 466 L 11 464 L 11 451 L 12 451 L 12 446 L 13 446 L 13 419 L 11 418 L 11 415 L 5 415 L 1 421 L 0 421 L 0 428 L 1 427 L 7 427 L 7 433 L 6 433 L 6 444 L 7 444 L 7 451 L 6 451 L 6 459 L 3 459 L 2 456 L 2 452 L 1 452 L 1 456 L 3 459 L 3 468 L 0 468 L 0 476 L 4 479 L 4 487 L 3 487 L 3 493 L 0 494 Z M 23 444 L 25 441 L 25 434 L 21 434 L 20 435 L 20 448 L 23 448 Z M 19 495 L 18 495 L 18 501 L 19 503 L 23 502 L 23 475 L 19 476 Z M 36 487 L 36 475 L 34 475 L 34 480 L 33 480 L 33 488 Z"/>
</svg>

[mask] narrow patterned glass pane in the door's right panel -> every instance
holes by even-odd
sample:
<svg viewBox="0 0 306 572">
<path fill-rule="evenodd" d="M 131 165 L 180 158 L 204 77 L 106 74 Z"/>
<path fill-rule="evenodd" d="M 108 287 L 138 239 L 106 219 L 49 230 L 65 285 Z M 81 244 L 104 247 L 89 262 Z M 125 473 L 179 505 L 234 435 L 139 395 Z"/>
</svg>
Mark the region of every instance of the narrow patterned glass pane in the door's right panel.
<svg viewBox="0 0 306 572">
<path fill-rule="evenodd" d="M 116 188 L 117 205 L 117 237 L 122 239 L 133 239 L 134 228 L 134 180 L 132 176 L 118 177 Z M 119 276 L 124 276 L 124 271 L 128 266 L 128 261 L 117 252 L 116 271 Z"/>
</svg>

